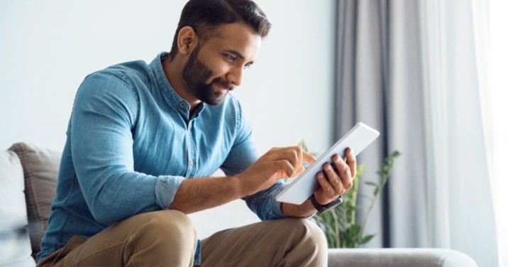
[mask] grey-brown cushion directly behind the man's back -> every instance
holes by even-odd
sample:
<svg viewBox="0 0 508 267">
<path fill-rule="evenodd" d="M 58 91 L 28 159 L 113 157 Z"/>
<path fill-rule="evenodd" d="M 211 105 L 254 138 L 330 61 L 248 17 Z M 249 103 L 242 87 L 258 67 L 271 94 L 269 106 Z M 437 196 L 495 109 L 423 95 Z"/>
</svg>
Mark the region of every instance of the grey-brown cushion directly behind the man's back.
<svg viewBox="0 0 508 267">
<path fill-rule="evenodd" d="M 33 256 L 35 256 L 40 251 L 40 239 L 48 227 L 51 201 L 56 192 L 61 153 L 28 143 L 15 143 L 9 150 L 18 155 L 21 165 L 23 165 L 28 232 Z"/>
</svg>

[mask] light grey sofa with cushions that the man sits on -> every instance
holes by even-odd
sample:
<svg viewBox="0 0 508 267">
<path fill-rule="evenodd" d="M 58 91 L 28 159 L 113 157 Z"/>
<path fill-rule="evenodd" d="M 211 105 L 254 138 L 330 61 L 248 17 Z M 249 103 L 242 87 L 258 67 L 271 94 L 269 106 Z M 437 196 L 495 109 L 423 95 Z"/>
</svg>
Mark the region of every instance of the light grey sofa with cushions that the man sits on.
<svg viewBox="0 0 508 267">
<path fill-rule="evenodd" d="M 26 143 L 0 151 L 0 266 L 35 266 L 60 152 Z M 477 266 L 447 249 L 330 249 L 328 266 Z"/>
</svg>

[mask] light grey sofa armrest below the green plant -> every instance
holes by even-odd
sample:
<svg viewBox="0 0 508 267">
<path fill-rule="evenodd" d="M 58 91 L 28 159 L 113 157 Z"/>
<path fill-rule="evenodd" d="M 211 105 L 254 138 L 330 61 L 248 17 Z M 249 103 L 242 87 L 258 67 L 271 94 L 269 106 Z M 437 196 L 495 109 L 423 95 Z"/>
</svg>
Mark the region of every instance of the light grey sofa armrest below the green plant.
<svg viewBox="0 0 508 267">
<path fill-rule="evenodd" d="M 328 266 L 477 267 L 470 256 L 451 249 L 329 249 Z"/>
</svg>

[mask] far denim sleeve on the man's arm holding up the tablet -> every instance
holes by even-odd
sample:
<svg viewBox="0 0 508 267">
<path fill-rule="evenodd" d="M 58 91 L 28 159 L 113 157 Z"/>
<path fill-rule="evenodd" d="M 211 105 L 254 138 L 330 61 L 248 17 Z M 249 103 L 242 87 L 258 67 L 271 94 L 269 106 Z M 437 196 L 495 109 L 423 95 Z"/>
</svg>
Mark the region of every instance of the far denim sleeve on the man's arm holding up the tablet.
<svg viewBox="0 0 508 267">
<path fill-rule="evenodd" d="M 252 128 L 243 117 L 241 106 L 237 101 L 236 108 L 236 138 L 226 160 L 221 165 L 221 170 L 228 176 L 243 172 L 259 158 L 258 150 L 255 148 L 252 138 Z M 281 219 L 285 216 L 282 214 L 281 203 L 275 200 L 275 197 L 282 191 L 283 187 L 284 182 L 279 181 L 267 190 L 242 199 L 261 220 Z"/>
</svg>

